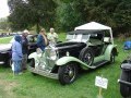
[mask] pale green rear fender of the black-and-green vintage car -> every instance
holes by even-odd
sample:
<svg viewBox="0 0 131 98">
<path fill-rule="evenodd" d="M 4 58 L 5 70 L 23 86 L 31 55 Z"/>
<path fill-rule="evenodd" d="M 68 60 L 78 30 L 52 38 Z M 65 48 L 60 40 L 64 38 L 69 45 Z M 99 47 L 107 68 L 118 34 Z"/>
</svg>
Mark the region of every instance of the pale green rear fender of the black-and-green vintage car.
<svg viewBox="0 0 131 98">
<path fill-rule="evenodd" d="M 116 49 L 117 45 L 109 45 L 105 50 L 105 60 L 110 61 L 110 53 L 114 49 Z"/>
</svg>

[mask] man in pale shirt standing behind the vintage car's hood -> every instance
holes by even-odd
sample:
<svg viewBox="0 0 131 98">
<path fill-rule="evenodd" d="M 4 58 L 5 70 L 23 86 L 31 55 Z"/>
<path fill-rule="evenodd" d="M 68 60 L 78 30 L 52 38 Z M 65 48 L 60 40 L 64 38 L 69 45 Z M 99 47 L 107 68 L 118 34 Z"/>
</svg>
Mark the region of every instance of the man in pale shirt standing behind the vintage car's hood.
<svg viewBox="0 0 131 98">
<path fill-rule="evenodd" d="M 48 39 L 51 44 L 56 44 L 58 40 L 58 35 L 55 33 L 55 28 L 50 28 L 50 33 L 48 34 Z"/>
</svg>

